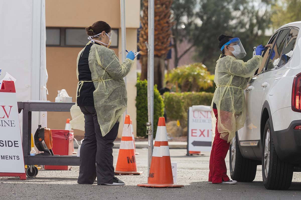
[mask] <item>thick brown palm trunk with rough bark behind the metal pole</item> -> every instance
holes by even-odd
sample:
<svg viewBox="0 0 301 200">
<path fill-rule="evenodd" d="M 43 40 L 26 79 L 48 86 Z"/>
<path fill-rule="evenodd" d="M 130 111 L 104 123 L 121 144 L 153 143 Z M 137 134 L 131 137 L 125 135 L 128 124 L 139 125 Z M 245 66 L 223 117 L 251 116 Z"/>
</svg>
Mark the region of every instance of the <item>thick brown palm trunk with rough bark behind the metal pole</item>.
<svg viewBox="0 0 301 200">
<path fill-rule="evenodd" d="M 142 0 L 141 29 L 138 46 L 141 50 L 141 80 L 147 79 L 147 48 L 148 41 L 148 0 Z M 171 49 L 170 38 L 173 25 L 171 19 L 172 0 L 155 0 L 155 36 L 154 36 L 154 84 L 160 89 L 163 87 L 165 58 Z"/>
</svg>

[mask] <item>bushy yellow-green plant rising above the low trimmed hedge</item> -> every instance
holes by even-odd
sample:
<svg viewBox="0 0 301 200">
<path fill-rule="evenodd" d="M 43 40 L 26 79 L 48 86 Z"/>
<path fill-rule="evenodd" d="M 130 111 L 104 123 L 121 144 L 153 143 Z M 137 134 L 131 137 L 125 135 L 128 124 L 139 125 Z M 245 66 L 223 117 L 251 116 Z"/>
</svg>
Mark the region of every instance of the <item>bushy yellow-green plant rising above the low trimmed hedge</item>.
<svg viewBox="0 0 301 200">
<path fill-rule="evenodd" d="M 175 85 L 180 84 L 182 92 L 198 92 L 213 86 L 211 75 L 202 63 L 177 67 L 169 73 L 167 80 Z"/>
</svg>

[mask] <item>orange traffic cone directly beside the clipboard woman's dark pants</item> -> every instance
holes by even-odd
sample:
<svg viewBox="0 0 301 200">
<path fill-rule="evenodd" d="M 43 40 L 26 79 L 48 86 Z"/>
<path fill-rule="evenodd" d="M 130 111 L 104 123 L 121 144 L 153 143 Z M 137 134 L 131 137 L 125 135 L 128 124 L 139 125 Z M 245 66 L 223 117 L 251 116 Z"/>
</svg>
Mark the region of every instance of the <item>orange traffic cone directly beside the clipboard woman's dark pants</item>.
<svg viewBox="0 0 301 200">
<path fill-rule="evenodd" d="M 115 174 L 140 175 L 142 173 L 143 172 L 137 172 L 131 119 L 129 115 L 126 115 Z"/>
</svg>

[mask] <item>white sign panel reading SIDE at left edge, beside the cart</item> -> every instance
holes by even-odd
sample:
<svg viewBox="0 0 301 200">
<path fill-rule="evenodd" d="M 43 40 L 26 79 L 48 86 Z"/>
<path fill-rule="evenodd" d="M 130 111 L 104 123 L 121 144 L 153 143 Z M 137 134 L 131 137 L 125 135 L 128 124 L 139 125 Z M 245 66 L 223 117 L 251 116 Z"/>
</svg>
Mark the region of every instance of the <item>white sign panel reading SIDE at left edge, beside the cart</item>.
<svg viewBox="0 0 301 200">
<path fill-rule="evenodd" d="M 17 97 L 14 92 L 0 92 L 0 163 L 0 172 L 25 173 Z"/>
</svg>

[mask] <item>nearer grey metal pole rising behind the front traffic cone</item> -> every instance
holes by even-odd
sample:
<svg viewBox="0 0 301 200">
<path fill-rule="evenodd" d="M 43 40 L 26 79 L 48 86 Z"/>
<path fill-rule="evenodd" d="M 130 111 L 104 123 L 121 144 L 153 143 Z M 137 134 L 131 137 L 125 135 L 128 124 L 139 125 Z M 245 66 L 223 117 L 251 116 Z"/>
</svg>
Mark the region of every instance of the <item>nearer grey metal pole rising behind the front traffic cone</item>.
<svg viewBox="0 0 301 200">
<path fill-rule="evenodd" d="M 148 121 L 151 122 L 151 133 L 148 135 L 148 173 L 151 168 L 153 156 L 153 130 L 154 130 L 154 0 L 148 0 L 148 69 L 147 89 L 149 96 Z"/>
</svg>

